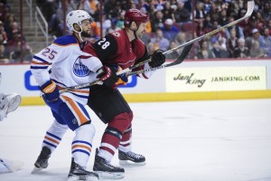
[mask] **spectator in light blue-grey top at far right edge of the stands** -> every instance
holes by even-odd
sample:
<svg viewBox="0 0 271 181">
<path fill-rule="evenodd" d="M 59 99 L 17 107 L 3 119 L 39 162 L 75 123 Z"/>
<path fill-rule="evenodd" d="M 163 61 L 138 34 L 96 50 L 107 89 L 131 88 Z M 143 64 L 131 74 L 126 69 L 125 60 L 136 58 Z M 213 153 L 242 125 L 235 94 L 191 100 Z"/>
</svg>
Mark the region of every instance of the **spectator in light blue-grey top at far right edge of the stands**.
<svg viewBox="0 0 271 181">
<path fill-rule="evenodd" d="M 266 57 L 271 57 L 271 36 L 269 34 L 269 29 L 264 28 L 264 33 L 259 38 L 260 48 L 264 51 Z"/>
</svg>

